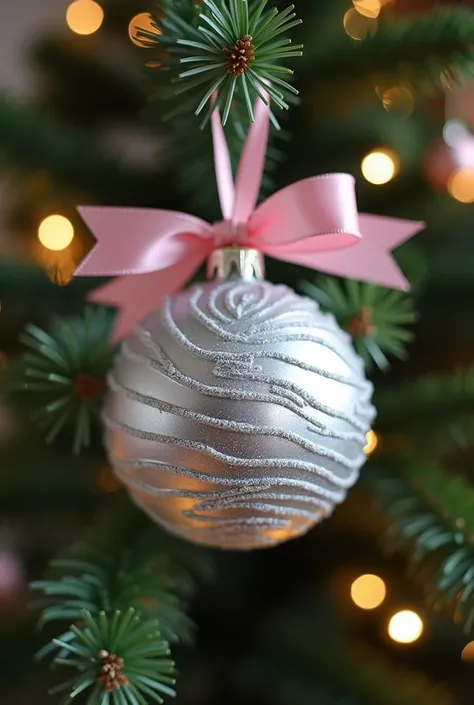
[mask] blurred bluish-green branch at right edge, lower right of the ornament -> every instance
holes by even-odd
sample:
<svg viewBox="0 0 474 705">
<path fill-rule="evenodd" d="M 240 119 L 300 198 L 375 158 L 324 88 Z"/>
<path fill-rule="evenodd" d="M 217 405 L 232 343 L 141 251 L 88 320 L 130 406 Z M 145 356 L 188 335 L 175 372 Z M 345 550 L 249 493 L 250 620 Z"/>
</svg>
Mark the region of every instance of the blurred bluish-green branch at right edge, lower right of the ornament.
<svg viewBox="0 0 474 705">
<path fill-rule="evenodd" d="M 428 603 L 474 627 L 474 489 L 434 464 L 413 461 L 402 472 L 365 474 L 376 505 L 387 517 L 385 545 L 409 555 L 411 573 Z"/>
</svg>

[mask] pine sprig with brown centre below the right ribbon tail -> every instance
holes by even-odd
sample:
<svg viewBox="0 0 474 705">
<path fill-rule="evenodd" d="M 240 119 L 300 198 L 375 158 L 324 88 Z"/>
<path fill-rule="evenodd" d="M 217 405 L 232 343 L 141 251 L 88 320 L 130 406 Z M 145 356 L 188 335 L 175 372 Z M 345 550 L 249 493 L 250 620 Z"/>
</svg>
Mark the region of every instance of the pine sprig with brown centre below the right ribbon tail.
<svg viewBox="0 0 474 705">
<path fill-rule="evenodd" d="M 339 282 L 333 277 L 303 282 L 301 288 L 352 335 L 367 367 L 375 363 L 386 369 L 386 353 L 401 359 L 406 356 L 406 345 L 413 339 L 407 326 L 417 319 L 412 299 L 406 294 L 351 279 Z"/>
</svg>

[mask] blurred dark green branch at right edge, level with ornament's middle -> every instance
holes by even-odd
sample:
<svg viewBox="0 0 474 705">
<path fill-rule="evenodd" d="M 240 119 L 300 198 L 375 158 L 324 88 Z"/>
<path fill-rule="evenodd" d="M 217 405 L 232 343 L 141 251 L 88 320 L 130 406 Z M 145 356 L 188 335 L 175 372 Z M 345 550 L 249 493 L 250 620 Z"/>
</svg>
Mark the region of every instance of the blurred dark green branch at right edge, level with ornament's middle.
<svg viewBox="0 0 474 705">
<path fill-rule="evenodd" d="M 377 428 L 429 439 L 431 451 L 466 445 L 474 437 L 474 369 L 376 391 Z"/>
</svg>

